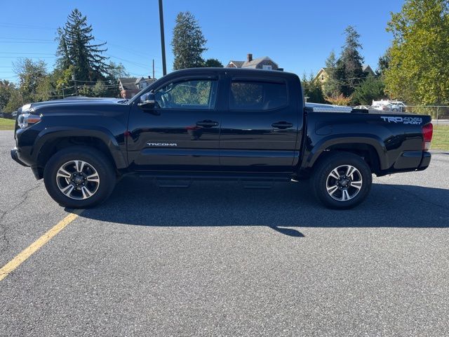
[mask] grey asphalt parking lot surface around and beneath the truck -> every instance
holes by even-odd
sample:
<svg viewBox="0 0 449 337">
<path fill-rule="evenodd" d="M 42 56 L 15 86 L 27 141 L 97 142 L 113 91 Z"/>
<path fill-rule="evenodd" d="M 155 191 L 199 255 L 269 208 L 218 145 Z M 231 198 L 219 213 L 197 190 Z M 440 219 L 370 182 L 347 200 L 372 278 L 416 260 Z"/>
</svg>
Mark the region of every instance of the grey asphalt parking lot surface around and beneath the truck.
<svg viewBox="0 0 449 337">
<path fill-rule="evenodd" d="M 0 131 L 0 267 L 65 218 Z M 0 281 L 1 336 L 449 336 L 449 154 L 330 211 L 304 184 L 123 178 Z"/>
</svg>

